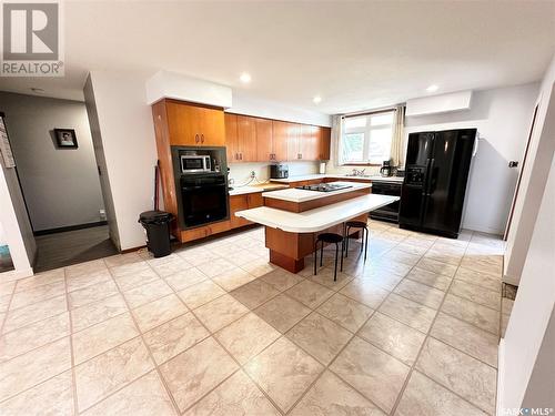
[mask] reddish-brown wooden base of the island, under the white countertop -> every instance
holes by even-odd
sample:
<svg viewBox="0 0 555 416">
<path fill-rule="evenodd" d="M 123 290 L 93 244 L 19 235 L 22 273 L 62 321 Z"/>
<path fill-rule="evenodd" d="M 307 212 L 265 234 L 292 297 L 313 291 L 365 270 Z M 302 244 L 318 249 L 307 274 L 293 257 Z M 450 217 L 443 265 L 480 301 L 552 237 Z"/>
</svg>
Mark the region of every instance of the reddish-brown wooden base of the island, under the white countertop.
<svg viewBox="0 0 555 416">
<path fill-rule="evenodd" d="M 349 221 L 366 222 L 369 214 L 362 214 Z M 291 273 L 299 273 L 304 268 L 304 257 L 314 253 L 316 236 L 322 233 L 343 235 L 343 224 L 316 233 L 290 233 L 279 229 L 265 227 L 266 247 L 270 248 L 270 263 L 273 263 Z"/>
</svg>

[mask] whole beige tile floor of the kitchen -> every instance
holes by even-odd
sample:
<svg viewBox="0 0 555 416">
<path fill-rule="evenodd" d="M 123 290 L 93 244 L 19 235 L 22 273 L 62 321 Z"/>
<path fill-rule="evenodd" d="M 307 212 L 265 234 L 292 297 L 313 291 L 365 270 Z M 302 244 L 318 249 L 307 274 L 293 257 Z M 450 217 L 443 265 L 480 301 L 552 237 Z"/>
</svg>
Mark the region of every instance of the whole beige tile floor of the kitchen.
<svg viewBox="0 0 555 416">
<path fill-rule="evenodd" d="M 0 283 L 0 414 L 493 415 L 503 242 L 369 224 L 335 283 L 262 229 Z"/>
</svg>

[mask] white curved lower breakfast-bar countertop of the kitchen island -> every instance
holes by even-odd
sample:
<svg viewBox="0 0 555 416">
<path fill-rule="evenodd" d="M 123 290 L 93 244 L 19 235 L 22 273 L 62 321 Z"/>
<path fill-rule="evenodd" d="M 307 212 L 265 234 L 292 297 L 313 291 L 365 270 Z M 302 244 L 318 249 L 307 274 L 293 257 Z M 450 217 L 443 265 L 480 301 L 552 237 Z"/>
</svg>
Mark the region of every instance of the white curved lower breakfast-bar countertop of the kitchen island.
<svg viewBox="0 0 555 416">
<path fill-rule="evenodd" d="M 290 233 L 315 233 L 391 204 L 398 196 L 369 194 L 301 213 L 259 206 L 235 216 Z"/>
</svg>

